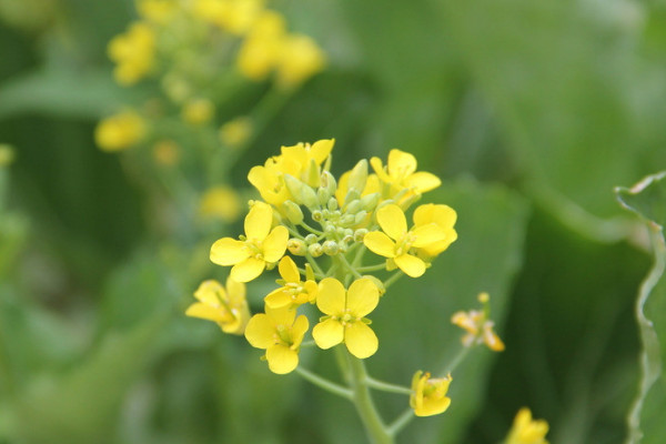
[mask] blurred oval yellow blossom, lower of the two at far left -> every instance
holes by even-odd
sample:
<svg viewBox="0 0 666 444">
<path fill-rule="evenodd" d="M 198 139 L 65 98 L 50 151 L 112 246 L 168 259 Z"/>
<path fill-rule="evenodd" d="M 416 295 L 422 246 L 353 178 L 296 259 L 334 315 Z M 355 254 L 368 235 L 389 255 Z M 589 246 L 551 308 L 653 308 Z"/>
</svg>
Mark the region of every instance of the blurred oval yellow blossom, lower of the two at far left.
<svg viewBox="0 0 666 444">
<path fill-rule="evenodd" d="M 125 111 L 102 120 L 94 130 L 94 140 L 104 151 L 121 151 L 145 135 L 145 123 L 134 111 Z"/>
</svg>

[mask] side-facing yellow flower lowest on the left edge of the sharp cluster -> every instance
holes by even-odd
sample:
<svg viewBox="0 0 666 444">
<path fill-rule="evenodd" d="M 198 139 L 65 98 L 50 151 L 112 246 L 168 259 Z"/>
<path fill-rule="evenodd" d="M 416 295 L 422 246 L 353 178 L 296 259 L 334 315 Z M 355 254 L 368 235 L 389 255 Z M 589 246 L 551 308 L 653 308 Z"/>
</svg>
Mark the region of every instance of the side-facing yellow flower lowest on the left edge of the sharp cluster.
<svg viewBox="0 0 666 444">
<path fill-rule="evenodd" d="M 229 278 L 225 290 L 218 281 L 204 281 L 194 297 L 199 302 L 185 311 L 188 316 L 216 322 L 224 333 L 243 334 L 250 320 L 245 284 Z"/>
</svg>

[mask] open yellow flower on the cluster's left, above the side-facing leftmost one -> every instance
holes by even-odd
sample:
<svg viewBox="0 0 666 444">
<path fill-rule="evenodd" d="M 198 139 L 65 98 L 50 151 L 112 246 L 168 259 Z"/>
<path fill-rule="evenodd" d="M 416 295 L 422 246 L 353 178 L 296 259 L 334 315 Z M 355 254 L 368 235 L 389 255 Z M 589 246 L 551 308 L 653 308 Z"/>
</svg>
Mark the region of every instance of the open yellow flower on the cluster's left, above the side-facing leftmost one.
<svg viewBox="0 0 666 444">
<path fill-rule="evenodd" d="M 273 209 L 264 202 L 255 202 L 245 216 L 245 236 L 240 241 L 222 238 L 211 246 L 211 261 L 219 265 L 233 265 L 231 276 L 249 282 L 259 276 L 266 264 L 272 265 L 284 255 L 289 231 L 273 224 Z"/>
</svg>

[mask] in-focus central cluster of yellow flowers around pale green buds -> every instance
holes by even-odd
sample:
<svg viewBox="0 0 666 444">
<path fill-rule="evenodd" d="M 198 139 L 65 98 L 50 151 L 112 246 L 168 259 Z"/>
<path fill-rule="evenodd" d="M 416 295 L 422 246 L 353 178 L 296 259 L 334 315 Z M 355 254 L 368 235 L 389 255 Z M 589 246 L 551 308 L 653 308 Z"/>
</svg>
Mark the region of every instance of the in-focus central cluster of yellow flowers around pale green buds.
<svg viewBox="0 0 666 444">
<path fill-rule="evenodd" d="M 357 359 L 372 356 L 380 341 L 367 316 L 386 287 L 400 275 L 424 274 L 456 239 L 456 213 L 446 205 L 417 206 L 407 229 L 405 212 L 440 184 L 416 171 L 412 154 L 392 150 L 386 167 L 377 158 L 362 160 L 336 180 L 330 171 L 333 145 L 334 140 L 320 140 L 282 147 L 252 168 L 249 180 L 262 200 L 250 202 L 245 233 L 211 248 L 211 261 L 231 266 L 233 281 L 249 282 L 278 266 L 280 286 L 265 295 L 265 313 L 255 314 L 245 330 L 275 373 L 299 365 L 310 325 L 297 312 L 312 306 L 321 313 L 311 333 L 314 344 L 322 350 L 344 344 Z M 369 251 L 376 255 L 366 258 Z M 373 271 L 381 274 L 369 274 Z M 420 411 L 431 408 L 431 392 L 418 395 L 426 405 Z"/>
</svg>

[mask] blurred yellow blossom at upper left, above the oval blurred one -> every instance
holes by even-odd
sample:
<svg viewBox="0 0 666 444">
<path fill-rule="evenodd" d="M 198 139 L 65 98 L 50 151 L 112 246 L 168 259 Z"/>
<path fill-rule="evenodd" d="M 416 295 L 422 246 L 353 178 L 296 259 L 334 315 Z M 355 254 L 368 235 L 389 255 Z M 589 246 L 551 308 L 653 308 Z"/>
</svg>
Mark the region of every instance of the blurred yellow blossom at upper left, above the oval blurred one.
<svg viewBox="0 0 666 444">
<path fill-rule="evenodd" d="M 109 42 L 108 50 L 117 64 L 113 75 L 118 83 L 134 84 L 153 69 L 155 33 L 148 23 L 134 22 L 125 33 Z"/>
</svg>

